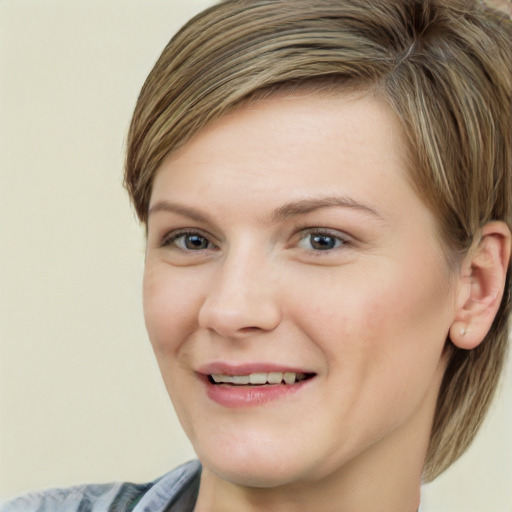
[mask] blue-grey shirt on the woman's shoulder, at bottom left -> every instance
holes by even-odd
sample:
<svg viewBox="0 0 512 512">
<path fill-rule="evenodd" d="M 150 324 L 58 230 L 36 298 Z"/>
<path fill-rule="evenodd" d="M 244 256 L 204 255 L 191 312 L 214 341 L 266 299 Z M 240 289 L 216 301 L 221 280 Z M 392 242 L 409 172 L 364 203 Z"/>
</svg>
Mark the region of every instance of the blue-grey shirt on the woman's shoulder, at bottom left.
<svg viewBox="0 0 512 512">
<path fill-rule="evenodd" d="M 0 505 L 0 512 L 152 512 L 199 485 L 201 465 L 192 461 L 147 484 L 121 482 L 32 492 Z M 190 493 L 189 493 L 190 494 Z"/>
</svg>

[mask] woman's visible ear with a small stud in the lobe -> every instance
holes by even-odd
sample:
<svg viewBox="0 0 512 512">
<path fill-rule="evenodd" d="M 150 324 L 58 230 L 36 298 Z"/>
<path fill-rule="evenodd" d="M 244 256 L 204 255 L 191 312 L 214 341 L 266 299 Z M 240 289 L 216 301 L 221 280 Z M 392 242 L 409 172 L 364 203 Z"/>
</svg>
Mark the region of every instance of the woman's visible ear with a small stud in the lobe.
<svg viewBox="0 0 512 512">
<path fill-rule="evenodd" d="M 463 349 L 477 347 L 485 338 L 503 298 L 510 262 L 511 233 L 504 222 L 490 222 L 480 233 L 461 269 L 452 343 Z"/>
</svg>

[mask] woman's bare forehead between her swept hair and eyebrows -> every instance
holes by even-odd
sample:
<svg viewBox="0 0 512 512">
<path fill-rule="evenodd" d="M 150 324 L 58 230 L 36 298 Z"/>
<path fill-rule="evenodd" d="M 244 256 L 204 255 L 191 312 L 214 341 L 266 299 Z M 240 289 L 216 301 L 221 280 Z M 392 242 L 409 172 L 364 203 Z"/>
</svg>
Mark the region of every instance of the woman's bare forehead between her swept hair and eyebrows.
<svg viewBox="0 0 512 512">
<path fill-rule="evenodd" d="M 287 191 L 319 192 L 369 178 L 367 195 L 408 179 L 408 155 L 400 121 L 381 99 L 362 93 L 319 95 L 308 91 L 252 100 L 196 133 L 157 171 L 153 203 L 167 182 L 192 188 L 228 173 Z M 165 172 L 164 172 L 165 171 Z M 273 185 L 273 187 L 271 186 Z M 362 185 L 362 184 L 361 184 Z"/>
</svg>

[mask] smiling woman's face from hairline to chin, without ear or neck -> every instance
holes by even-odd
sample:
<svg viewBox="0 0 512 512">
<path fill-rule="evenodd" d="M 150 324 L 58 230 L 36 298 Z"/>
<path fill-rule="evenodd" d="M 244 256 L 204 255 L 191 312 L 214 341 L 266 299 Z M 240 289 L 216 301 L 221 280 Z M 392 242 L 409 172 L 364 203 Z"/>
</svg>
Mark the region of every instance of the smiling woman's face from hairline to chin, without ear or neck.
<svg viewBox="0 0 512 512">
<path fill-rule="evenodd" d="M 244 107 L 161 165 L 146 324 L 217 476 L 270 487 L 422 460 L 457 279 L 407 172 L 391 111 L 344 95 Z"/>
</svg>

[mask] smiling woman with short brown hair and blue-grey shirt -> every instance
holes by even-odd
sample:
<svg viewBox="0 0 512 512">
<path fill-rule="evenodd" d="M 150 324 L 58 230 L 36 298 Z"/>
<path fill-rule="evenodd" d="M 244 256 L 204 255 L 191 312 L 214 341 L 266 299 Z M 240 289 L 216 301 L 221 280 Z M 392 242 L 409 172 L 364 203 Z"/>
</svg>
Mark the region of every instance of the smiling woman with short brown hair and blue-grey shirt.
<svg viewBox="0 0 512 512">
<path fill-rule="evenodd" d="M 462 0 L 228 0 L 184 27 L 126 185 L 201 466 L 36 508 L 417 510 L 506 351 L 511 39 Z"/>
</svg>

